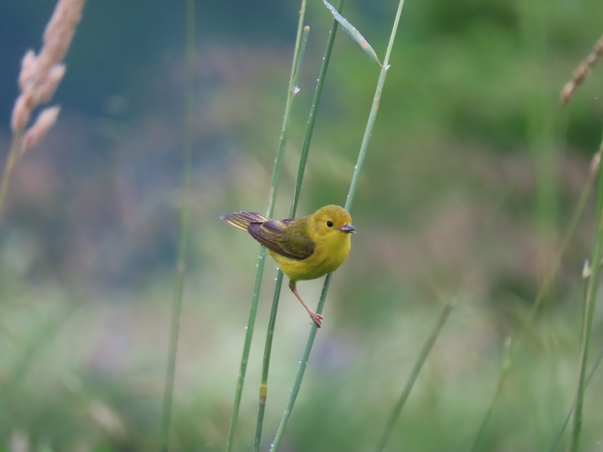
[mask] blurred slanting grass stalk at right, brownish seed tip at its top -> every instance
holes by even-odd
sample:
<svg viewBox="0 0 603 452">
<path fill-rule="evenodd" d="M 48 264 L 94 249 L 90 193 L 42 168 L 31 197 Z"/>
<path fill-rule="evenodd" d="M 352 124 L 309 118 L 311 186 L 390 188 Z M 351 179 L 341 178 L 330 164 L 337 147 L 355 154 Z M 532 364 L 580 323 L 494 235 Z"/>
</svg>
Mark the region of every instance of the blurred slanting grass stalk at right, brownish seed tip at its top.
<svg viewBox="0 0 603 452">
<path fill-rule="evenodd" d="M 578 225 L 578 220 L 579 220 L 580 216 L 582 215 L 582 211 L 584 210 L 586 201 L 589 198 L 590 190 L 592 189 L 593 183 L 595 182 L 595 177 L 598 174 L 598 171 L 599 171 L 598 164 L 597 165 L 594 164 L 594 162 L 598 162 L 598 159 L 600 159 L 600 152 L 595 154 L 595 157 L 593 157 L 593 165 L 591 165 L 589 177 L 586 181 L 586 184 L 584 185 L 584 189 L 582 189 L 582 193 L 580 194 L 580 198 L 578 199 L 578 204 L 576 204 L 576 208 L 574 209 L 574 211 L 572 213 L 572 218 L 570 219 L 570 222 L 567 225 L 566 231 L 563 235 L 563 240 L 561 240 L 561 246 L 557 253 L 557 259 L 555 260 L 554 265 L 551 267 L 551 270 L 546 275 L 545 280 L 541 284 L 540 289 L 538 290 L 538 293 L 534 300 L 534 304 L 532 304 L 532 309 L 530 310 L 528 319 L 526 319 L 525 324 L 523 324 L 522 330 L 520 331 L 519 335 L 517 336 L 516 341 L 514 341 L 514 345 L 511 348 L 509 358 L 508 358 L 508 360 L 509 360 L 508 366 L 504 366 L 500 371 L 498 381 L 496 382 L 496 389 L 494 390 L 494 395 L 492 397 L 492 400 L 490 401 L 490 405 L 488 406 L 488 409 L 484 415 L 484 418 L 482 419 L 478 432 L 475 435 L 475 439 L 473 440 L 473 447 L 471 449 L 472 451 L 478 450 L 477 447 L 478 447 L 479 441 L 481 440 L 482 435 L 485 432 L 485 427 L 487 426 L 488 421 L 490 421 L 490 417 L 491 417 L 492 413 L 494 412 L 494 406 L 496 406 L 496 403 L 499 399 L 500 392 L 502 391 L 502 388 L 505 385 L 505 381 L 507 380 L 507 377 L 511 371 L 511 368 L 513 367 L 513 362 L 514 362 L 516 354 L 519 351 L 520 344 L 522 344 L 523 337 L 525 336 L 528 329 L 532 326 L 532 324 L 534 324 L 534 319 L 538 312 L 538 308 L 540 307 L 540 304 L 544 300 L 545 295 L 548 293 L 549 288 L 551 287 L 551 284 L 552 284 L 553 280 L 555 279 L 555 275 L 557 275 L 557 272 L 559 271 L 559 268 L 561 266 L 561 259 L 563 258 L 564 254 L 567 250 L 567 246 L 569 246 L 569 242 L 572 239 L 573 233 L 576 230 L 576 226 Z"/>
</svg>

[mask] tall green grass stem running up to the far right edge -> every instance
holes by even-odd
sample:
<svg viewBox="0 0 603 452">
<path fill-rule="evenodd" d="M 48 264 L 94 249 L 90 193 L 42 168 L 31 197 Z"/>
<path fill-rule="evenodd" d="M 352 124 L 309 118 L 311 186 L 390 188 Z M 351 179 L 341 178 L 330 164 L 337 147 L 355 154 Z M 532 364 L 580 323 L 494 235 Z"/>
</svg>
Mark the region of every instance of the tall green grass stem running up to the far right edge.
<svg viewBox="0 0 603 452">
<path fill-rule="evenodd" d="M 599 155 L 603 152 L 603 139 L 599 145 Z M 586 309 L 582 324 L 582 341 L 580 347 L 580 367 L 578 376 L 578 391 L 576 393 L 576 407 L 573 413 L 573 430 L 570 450 L 578 451 L 580 433 L 582 429 L 582 407 L 584 405 L 584 391 L 586 389 L 586 367 L 589 357 L 590 335 L 595 315 L 597 289 L 599 285 L 599 269 L 601 268 L 601 243 L 603 242 L 603 171 L 599 170 L 599 190 L 597 193 L 596 217 L 598 219 L 595 238 L 593 239 L 592 269 L 590 271 L 589 286 L 586 292 Z"/>
</svg>

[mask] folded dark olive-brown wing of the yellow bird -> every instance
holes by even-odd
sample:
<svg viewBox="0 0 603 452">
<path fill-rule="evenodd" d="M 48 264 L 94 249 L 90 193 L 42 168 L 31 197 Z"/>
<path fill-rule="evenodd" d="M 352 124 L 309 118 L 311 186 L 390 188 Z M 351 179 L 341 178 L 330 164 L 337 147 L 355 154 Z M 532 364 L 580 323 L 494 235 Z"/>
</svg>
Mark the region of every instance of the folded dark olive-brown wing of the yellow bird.
<svg viewBox="0 0 603 452">
<path fill-rule="evenodd" d="M 268 250 L 291 259 L 303 260 L 314 253 L 314 240 L 308 236 L 305 222 L 299 219 L 250 223 L 247 231 Z"/>
</svg>

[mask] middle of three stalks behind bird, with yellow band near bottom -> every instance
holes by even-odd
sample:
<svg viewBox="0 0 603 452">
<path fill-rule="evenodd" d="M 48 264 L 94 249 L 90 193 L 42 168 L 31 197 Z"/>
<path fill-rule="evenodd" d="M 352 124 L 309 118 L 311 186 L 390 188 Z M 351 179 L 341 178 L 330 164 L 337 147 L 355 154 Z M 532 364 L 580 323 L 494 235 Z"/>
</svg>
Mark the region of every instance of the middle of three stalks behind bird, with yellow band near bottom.
<svg viewBox="0 0 603 452">
<path fill-rule="evenodd" d="M 340 10 L 343 6 L 343 1 L 344 0 L 339 0 L 339 3 L 337 5 L 338 10 Z M 333 20 L 333 25 L 329 33 L 329 39 L 327 40 L 327 48 L 324 52 L 323 64 L 320 67 L 318 81 L 314 90 L 314 97 L 312 98 L 312 107 L 310 108 L 308 124 L 306 125 L 306 134 L 301 148 L 300 163 L 297 171 L 297 178 L 295 179 L 295 189 L 291 201 L 291 209 L 289 210 L 289 218 L 294 218 L 295 213 L 297 212 L 297 204 L 299 202 L 299 195 L 301 191 L 301 183 L 303 181 L 306 162 L 308 161 L 308 152 L 310 149 L 312 134 L 314 133 L 314 124 L 317 116 L 318 105 L 320 104 L 320 97 L 323 92 L 324 80 L 326 79 L 327 67 L 329 67 L 329 61 L 331 57 L 331 52 L 333 50 L 333 43 L 335 42 L 337 26 L 338 22 L 336 20 Z M 270 309 L 270 320 L 268 321 L 268 331 L 266 334 L 266 344 L 264 347 L 264 362 L 262 363 L 262 378 L 260 381 L 259 407 L 257 409 L 256 436 L 254 438 L 253 448 L 254 452 L 259 451 L 260 443 L 262 441 L 262 430 L 264 429 L 264 412 L 266 409 L 266 398 L 268 396 L 268 371 L 270 369 L 270 356 L 272 350 L 272 341 L 274 337 L 274 326 L 276 325 L 276 313 L 279 309 L 280 289 L 282 287 L 282 281 L 283 272 L 279 269 L 276 277 L 276 285 L 274 287 L 273 303 Z"/>
</svg>

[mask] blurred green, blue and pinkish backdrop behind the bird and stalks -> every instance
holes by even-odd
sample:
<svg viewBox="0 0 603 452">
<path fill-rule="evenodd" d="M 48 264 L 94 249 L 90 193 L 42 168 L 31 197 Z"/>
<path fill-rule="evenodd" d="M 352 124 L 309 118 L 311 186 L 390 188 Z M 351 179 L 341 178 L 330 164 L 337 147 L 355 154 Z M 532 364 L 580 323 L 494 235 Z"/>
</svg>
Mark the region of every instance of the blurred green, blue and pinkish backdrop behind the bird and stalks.
<svg viewBox="0 0 603 452">
<path fill-rule="evenodd" d="M 397 2 L 343 14 L 383 57 Z M 0 155 L 22 55 L 53 1 L 0 3 Z M 265 212 L 298 2 L 197 3 L 191 237 L 173 450 L 224 449 L 259 246 L 219 221 Z M 284 451 L 365 451 L 443 304 L 455 308 L 388 443 L 467 450 L 601 140 L 601 71 L 563 85 L 601 36 L 595 0 L 408 0 L 336 272 Z M 331 16 L 311 0 L 276 216 L 287 216 Z M 88 2 L 53 102 L 57 125 L 18 162 L 0 222 L 0 450 L 153 451 L 177 253 L 185 102 L 180 2 Z M 379 68 L 339 33 L 298 212 L 341 204 Z M 478 450 L 549 450 L 575 394 L 589 199 Z M 276 268 L 268 262 L 235 450 L 250 450 Z M 316 306 L 322 280 L 298 284 Z M 274 438 L 309 319 L 283 290 L 262 450 Z M 601 316 L 593 362 L 603 346 Z M 587 389 L 583 450 L 602 439 Z M 567 436 L 567 435 L 566 435 Z M 565 447 L 566 436 L 558 450 Z"/>
</svg>

